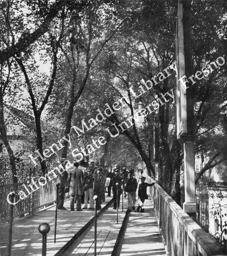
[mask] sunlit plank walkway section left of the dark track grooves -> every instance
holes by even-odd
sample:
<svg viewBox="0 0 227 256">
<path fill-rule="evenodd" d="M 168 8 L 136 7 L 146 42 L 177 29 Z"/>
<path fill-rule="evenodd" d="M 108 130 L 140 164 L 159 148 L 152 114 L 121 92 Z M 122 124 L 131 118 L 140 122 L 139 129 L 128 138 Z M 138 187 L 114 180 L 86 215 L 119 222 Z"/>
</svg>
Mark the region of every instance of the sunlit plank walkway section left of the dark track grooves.
<svg viewBox="0 0 227 256">
<path fill-rule="evenodd" d="M 102 204 L 102 207 L 111 198 L 106 197 L 106 202 Z M 58 210 L 56 243 L 54 243 L 55 205 L 34 212 L 33 215 L 15 220 L 13 222 L 11 256 L 40 256 L 42 252 L 42 235 L 38 231 L 38 226 L 42 222 L 47 222 L 51 226 L 51 230 L 47 235 L 47 255 L 54 255 L 94 217 L 95 211 L 93 210 L 71 211 L 70 200 L 65 201 L 64 207 L 67 210 Z M 0 226 L 0 229 L 0 255 L 5 256 L 7 255 L 9 224 Z"/>
</svg>

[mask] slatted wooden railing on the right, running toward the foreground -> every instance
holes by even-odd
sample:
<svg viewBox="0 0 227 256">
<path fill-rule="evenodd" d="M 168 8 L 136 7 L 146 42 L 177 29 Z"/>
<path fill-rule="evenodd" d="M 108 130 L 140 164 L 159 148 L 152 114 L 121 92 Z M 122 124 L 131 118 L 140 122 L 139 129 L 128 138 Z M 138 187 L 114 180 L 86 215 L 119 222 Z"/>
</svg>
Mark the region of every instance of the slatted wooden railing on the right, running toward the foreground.
<svg viewBox="0 0 227 256">
<path fill-rule="evenodd" d="M 148 180 L 154 182 L 150 177 Z M 169 255 L 225 255 L 221 244 L 202 230 L 161 186 L 155 184 L 149 188 Z"/>
</svg>

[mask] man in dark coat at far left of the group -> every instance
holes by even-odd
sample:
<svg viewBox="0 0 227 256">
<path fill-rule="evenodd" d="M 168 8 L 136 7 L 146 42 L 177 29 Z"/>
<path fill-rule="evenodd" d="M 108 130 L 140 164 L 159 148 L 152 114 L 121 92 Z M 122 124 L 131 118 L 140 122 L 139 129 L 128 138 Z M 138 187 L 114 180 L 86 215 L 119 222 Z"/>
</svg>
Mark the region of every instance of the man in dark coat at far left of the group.
<svg viewBox="0 0 227 256">
<path fill-rule="evenodd" d="M 67 163 L 67 160 L 65 158 L 62 158 L 61 160 L 61 174 L 58 173 L 57 174 L 57 182 L 56 185 L 58 185 L 58 206 L 57 208 L 59 210 L 66 210 L 65 207 L 63 207 L 64 205 L 64 194 L 65 194 L 65 187 L 67 185 L 67 172 L 65 170 L 65 163 Z"/>
</svg>

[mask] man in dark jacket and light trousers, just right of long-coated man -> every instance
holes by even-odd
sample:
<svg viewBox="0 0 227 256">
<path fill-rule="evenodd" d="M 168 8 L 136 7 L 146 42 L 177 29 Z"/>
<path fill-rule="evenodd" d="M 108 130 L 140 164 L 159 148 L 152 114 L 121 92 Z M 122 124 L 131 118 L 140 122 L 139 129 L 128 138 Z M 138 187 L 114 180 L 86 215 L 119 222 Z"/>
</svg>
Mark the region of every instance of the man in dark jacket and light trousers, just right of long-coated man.
<svg viewBox="0 0 227 256">
<path fill-rule="evenodd" d="M 84 207 L 83 209 L 87 209 L 88 198 L 90 204 L 90 210 L 93 209 L 93 175 L 92 175 L 92 167 L 87 167 L 86 169 L 87 175 L 84 177 L 83 183 L 83 191 L 84 191 Z"/>
</svg>

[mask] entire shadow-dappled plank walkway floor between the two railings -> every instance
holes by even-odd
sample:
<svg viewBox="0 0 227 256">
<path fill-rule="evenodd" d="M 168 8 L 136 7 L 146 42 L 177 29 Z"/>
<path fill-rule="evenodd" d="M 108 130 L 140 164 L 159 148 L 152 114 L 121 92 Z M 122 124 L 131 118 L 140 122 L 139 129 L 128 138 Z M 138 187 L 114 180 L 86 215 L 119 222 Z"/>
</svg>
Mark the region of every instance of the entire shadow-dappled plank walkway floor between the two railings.
<svg viewBox="0 0 227 256">
<path fill-rule="evenodd" d="M 106 197 L 104 206 L 111 198 Z M 124 211 L 122 204 L 119 209 L 119 220 L 117 224 L 116 210 L 110 206 L 104 215 L 98 217 L 97 224 L 97 255 L 111 255 L 113 246 L 121 228 L 122 220 L 127 208 L 127 199 L 124 200 Z M 138 203 L 137 203 L 138 204 Z M 126 232 L 121 239 L 119 249 L 114 255 L 165 255 L 165 248 L 162 237 L 159 233 L 153 205 L 150 199 L 146 200 L 144 213 L 130 212 L 129 222 Z M 81 227 L 94 217 L 93 210 L 70 211 L 70 201 L 64 203 L 67 210 L 58 211 L 58 226 L 56 243 L 54 244 L 54 217 L 55 206 L 35 212 L 34 215 L 27 216 L 13 222 L 12 256 L 16 255 L 41 255 L 42 236 L 38 231 L 38 226 L 42 222 L 51 225 L 51 230 L 47 237 L 47 255 L 54 255 L 66 244 Z M 1 226 L 0 231 L 0 255 L 7 255 L 8 224 Z M 123 234 L 122 234 L 123 235 Z M 83 236 L 78 239 L 73 247 L 64 255 L 94 255 L 94 227 L 88 229 Z"/>
</svg>

